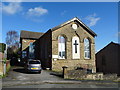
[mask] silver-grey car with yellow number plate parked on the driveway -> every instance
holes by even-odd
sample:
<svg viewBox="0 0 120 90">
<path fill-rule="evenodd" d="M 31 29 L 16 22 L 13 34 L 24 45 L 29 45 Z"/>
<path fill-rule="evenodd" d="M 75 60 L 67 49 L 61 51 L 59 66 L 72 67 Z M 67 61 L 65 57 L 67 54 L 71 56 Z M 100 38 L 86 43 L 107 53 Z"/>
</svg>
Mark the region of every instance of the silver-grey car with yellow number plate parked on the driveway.
<svg viewBox="0 0 120 90">
<path fill-rule="evenodd" d="M 29 60 L 25 65 L 25 70 L 27 72 L 39 72 L 41 73 L 41 62 L 40 60 Z"/>
</svg>

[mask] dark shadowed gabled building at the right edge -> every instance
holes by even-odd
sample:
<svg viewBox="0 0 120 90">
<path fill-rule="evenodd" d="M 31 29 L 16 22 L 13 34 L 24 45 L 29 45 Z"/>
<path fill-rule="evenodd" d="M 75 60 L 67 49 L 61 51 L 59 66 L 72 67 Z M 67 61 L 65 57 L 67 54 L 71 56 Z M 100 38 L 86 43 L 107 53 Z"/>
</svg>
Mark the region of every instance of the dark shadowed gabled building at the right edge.
<svg viewBox="0 0 120 90">
<path fill-rule="evenodd" d="M 111 42 L 96 53 L 97 72 L 120 75 L 120 44 Z"/>
</svg>

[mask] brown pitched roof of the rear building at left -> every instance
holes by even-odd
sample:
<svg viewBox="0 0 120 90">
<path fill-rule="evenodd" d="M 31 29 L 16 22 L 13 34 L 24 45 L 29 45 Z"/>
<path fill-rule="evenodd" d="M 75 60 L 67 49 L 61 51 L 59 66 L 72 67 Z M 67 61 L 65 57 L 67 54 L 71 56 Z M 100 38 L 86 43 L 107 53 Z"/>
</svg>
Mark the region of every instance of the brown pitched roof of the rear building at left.
<svg viewBox="0 0 120 90">
<path fill-rule="evenodd" d="M 20 38 L 39 39 L 44 33 L 21 30 Z"/>
</svg>

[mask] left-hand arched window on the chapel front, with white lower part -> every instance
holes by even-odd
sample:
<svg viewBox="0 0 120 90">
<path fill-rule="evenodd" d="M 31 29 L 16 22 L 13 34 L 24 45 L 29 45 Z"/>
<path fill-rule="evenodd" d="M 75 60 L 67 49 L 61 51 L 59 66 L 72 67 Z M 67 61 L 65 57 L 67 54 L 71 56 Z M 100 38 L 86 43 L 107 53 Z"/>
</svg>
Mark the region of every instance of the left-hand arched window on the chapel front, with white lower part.
<svg viewBox="0 0 120 90">
<path fill-rule="evenodd" d="M 66 40 L 65 37 L 59 36 L 58 37 L 58 54 L 59 54 L 59 59 L 65 59 L 66 56 Z"/>
</svg>

